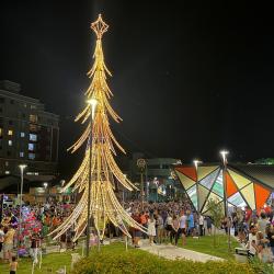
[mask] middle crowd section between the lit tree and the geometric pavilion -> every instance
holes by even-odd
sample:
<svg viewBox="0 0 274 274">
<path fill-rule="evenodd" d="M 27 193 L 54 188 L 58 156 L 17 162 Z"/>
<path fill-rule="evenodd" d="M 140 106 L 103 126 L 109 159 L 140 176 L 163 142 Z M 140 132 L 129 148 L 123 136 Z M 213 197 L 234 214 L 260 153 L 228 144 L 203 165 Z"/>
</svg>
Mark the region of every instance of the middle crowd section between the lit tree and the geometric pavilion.
<svg viewBox="0 0 274 274">
<path fill-rule="evenodd" d="M 186 237 L 201 237 L 205 231 L 212 233 L 212 218 L 198 216 L 187 201 L 142 204 L 132 201 L 124 206 L 132 217 L 147 229 L 145 233 L 139 229 L 129 228 L 135 248 L 139 248 L 139 240 L 147 237 L 150 244 L 169 242 L 175 246 L 182 238 L 184 246 Z"/>
</svg>

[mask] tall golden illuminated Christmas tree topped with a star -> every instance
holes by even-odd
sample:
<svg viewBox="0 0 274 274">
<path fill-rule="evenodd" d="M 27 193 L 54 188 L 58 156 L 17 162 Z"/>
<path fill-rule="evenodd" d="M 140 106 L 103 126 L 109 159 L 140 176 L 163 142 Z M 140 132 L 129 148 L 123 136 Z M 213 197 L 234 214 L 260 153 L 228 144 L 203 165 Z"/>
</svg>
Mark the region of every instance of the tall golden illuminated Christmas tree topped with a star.
<svg viewBox="0 0 274 274">
<path fill-rule="evenodd" d="M 111 76 L 111 72 L 104 64 L 102 49 L 102 36 L 107 31 L 109 25 L 105 24 L 100 14 L 98 20 L 91 24 L 91 28 L 96 34 L 96 46 L 93 55 L 94 64 L 88 72 L 89 78 L 92 80 L 84 94 L 87 102 L 93 100 L 93 105 L 87 105 L 76 117 L 76 122 L 80 121 L 82 124 L 89 121 L 92 122 L 89 123 L 81 137 L 69 148 L 71 152 L 75 152 L 87 142 L 87 150 L 81 165 L 62 190 L 66 191 L 73 185 L 73 191 L 82 193 L 82 196 L 70 217 L 53 232 L 57 232 L 55 239 L 66 232 L 73 224 L 76 224 L 75 240 L 85 230 L 90 178 L 90 217 L 93 218 L 94 227 L 101 239 L 104 235 L 105 224 L 109 220 L 128 237 L 130 236 L 127 226 L 145 231 L 145 228 L 136 222 L 121 206 L 114 194 L 115 180 L 129 191 L 136 187 L 123 174 L 114 160 L 116 155 L 115 146 L 124 153 L 125 150 L 112 134 L 109 122 L 109 115 L 117 123 L 122 121 L 109 102 L 113 93 L 106 83 L 106 76 Z M 94 102 L 96 102 L 96 109 Z"/>
</svg>

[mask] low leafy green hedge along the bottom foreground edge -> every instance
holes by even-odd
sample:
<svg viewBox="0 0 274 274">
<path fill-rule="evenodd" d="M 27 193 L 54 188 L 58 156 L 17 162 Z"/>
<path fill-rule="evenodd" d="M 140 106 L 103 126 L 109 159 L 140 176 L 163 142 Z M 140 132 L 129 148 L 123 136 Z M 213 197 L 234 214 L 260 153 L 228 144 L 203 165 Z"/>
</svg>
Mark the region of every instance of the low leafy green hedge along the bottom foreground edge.
<svg viewBox="0 0 274 274">
<path fill-rule="evenodd" d="M 255 274 L 248 264 L 233 261 L 198 263 L 186 260 L 170 261 L 141 250 L 92 251 L 89 259 L 75 265 L 72 274 Z"/>
</svg>

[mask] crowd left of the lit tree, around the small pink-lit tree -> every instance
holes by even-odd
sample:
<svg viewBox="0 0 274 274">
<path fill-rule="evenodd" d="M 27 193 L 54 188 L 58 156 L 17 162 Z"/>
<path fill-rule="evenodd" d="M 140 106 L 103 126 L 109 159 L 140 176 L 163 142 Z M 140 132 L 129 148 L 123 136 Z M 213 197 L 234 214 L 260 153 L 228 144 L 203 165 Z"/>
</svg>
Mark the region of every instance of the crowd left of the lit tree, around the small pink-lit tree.
<svg viewBox="0 0 274 274">
<path fill-rule="evenodd" d="M 20 207 L 11 206 L 2 209 L 0 222 L 0 260 L 12 263 L 13 254 L 20 256 L 31 255 L 37 263 L 38 250 L 47 241 L 47 235 L 67 218 L 73 205 L 57 203 L 49 199 L 45 204 L 22 207 L 22 221 L 20 222 Z M 72 242 L 72 235 L 66 233 L 66 242 Z M 60 239 L 60 242 L 64 237 Z"/>
</svg>

